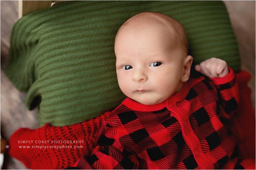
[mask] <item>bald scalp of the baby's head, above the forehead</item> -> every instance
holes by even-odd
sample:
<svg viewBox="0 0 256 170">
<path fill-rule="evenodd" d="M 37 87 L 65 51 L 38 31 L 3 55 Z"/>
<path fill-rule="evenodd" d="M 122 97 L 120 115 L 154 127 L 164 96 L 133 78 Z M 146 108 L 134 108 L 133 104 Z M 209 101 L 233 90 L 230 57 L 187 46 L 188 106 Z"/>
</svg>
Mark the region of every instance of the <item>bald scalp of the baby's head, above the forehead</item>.
<svg viewBox="0 0 256 170">
<path fill-rule="evenodd" d="M 188 54 L 188 40 L 183 26 L 174 18 L 156 12 L 142 12 L 128 19 L 118 30 L 115 40 L 124 34 L 145 29 L 163 32 L 164 37 L 170 39 L 171 46 L 181 47 Z"/>
</svg>

